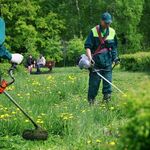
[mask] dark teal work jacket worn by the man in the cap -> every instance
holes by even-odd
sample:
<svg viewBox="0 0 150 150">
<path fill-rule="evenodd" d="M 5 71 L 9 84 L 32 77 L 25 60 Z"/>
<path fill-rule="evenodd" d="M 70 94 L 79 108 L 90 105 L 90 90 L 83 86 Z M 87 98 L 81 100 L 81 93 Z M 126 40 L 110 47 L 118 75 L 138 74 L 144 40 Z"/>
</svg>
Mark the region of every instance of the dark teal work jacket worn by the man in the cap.
<svg viewBox="0 0 150 150">
<path fill-rule="evenodd" d="M 100 45 L 99 37 L 98 37 L 98 35 L 93 33 L 93 31 L 94 31 L 93 29 L 91 30 L 90 34 L 88 35 L 88 37 L 85 41 L 85 45 L 84 45 L 85 49 L 89 48 L 91 50 L 92 54 L 94 54 L 94 52 L 96 51 L 96 49 Z M 105 42 L 105 46 L 107 48 L 111 48 L 112 50 L 108 51 L 108 52 L 104 52 L 102 54 L 97 54 L 93 58 L 95 60 L 95 63 L 97 63 L 99 67 L 105 67 L 105 66 L 112 65 L 112 62 L 118 57 L 117 37 L 116 37 L 116 34 L 115 34 L 115 30 L 112 29 L 112 28 L 108 28 L 104 32 L 102 30 L 101 26 L 100 26 L 99 30 L 100 30 L 100 32 L 102 33 L 103 36 L 106 36 L 106 35 L 109 36 L 109 34 L 111 34 L 110 33 L 111 31 L 114 32 L 113 38 L 108 39 L 108 40 L 106 39 L 106 42 Z"/>
</svg>

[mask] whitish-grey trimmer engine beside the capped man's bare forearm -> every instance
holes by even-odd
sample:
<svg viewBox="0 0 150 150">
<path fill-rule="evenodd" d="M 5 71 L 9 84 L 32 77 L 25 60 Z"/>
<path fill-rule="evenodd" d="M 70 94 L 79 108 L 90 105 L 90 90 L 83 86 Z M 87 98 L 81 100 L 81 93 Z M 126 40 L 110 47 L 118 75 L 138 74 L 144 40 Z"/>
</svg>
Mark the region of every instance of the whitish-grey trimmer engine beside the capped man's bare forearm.
<svg viewBox="0 0 150 150">
<path fill-rule="evenodd" d="M 81 55 L 81 59 L 78 63 L 78 66 L 80 69 L 88 69 L 91 67 L 91 62 L 85 54 Z"/>
</svg>

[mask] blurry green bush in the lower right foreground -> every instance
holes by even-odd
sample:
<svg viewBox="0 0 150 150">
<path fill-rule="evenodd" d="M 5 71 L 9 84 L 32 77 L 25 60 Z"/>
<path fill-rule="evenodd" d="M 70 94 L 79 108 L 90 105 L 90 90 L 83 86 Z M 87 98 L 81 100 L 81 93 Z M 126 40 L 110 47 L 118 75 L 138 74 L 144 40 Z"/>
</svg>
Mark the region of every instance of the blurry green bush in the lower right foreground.
<svg viewBox="0 0 150 150">
<path fill-rule="evenodd" d="M 150 84 L 148 79 L 144 80 L 121 102 L 128 122 L 120 127 L 119 150 L 148 150 L 150 147 Z"/>
</svg>

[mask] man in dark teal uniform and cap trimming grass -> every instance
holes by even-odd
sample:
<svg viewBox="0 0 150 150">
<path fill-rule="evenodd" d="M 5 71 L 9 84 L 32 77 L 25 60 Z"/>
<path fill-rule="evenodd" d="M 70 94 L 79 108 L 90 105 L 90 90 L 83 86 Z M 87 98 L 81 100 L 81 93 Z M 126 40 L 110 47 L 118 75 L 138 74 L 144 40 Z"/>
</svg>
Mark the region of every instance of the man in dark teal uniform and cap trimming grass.
<svg viewBox="0 0 150 150">
<path fill-rule="evenodd" d="M 112 82 L 112 64 L 119 63 L 116 32 L 110 27 L 111 23 L 112 16 L 108 12 L 102 14 L 100 25 L 92 28 L 85 42 L 86 55 L 89 61 L 110 82 Z M 90 69 L 88 89 L 90 105 L 95 102 L 101 80 L 97 73 Z M 104 102 L 111 100 L 112 88 L 105 80 L 103 80 L 102 93 Z"/>
</svg>

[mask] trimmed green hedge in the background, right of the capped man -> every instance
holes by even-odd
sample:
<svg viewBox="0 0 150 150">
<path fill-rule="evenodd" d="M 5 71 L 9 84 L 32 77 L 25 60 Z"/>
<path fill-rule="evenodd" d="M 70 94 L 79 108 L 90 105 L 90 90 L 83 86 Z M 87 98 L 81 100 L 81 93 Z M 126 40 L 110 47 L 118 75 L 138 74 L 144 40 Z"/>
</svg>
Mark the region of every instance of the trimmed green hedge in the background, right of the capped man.
<svg viewBox="0 0 150 150">
<path fill-rule="evenodd" d="M 122 55 L 121 68 L 128 71 L 150 71 L 150 53 L 139 52 Z"/>
</svg>

